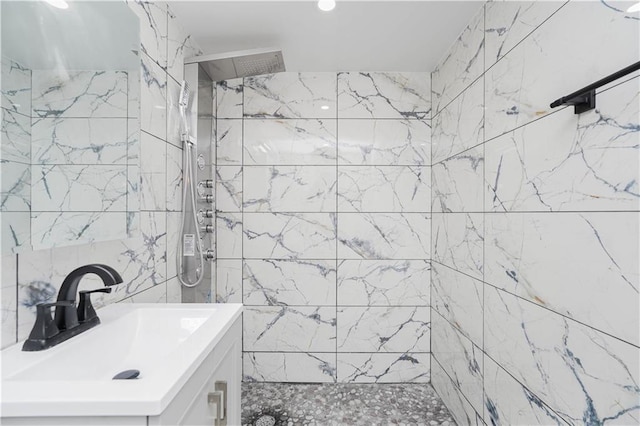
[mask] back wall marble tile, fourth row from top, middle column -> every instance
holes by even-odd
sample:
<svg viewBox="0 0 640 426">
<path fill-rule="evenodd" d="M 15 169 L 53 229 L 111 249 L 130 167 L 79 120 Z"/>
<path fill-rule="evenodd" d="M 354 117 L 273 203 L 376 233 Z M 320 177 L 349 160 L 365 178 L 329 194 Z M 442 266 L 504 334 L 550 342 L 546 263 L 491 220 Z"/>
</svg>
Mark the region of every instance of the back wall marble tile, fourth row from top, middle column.
<svg viewBox="0 0 640 426">
<path fill-rule="evenodd" d="M 243 217 L 245 258 L 336 257 L 335 214 L 244 213 Z"/>
</svg>

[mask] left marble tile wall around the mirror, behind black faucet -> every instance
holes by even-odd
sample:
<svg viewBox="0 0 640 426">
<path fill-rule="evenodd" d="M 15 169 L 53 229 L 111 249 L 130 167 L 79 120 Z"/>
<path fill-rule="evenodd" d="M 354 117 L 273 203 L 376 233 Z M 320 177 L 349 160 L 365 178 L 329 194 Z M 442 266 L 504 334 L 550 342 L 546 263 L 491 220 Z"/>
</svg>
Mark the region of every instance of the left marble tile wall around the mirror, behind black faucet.
<svg viewBox="0 0 640 426">
<path fill-rule="evenodd" d="M 175 241 L 171 233 L 177 232 L 181 208 L 175 194 L 181 194 L 182 151 L 173 121 L 183 58 L 200 51 L 178 24 L 167 3 L 130 1 L 128 4 L 138 15 L 141 28 L 141 81 L 139 88 L 132 89 L 140 93 L 141 131 L 139 149 L 129 152 L 136 161 L 135 166 L 130 167 L 139 167 L 141 179 L 128 183 L 139 185 L 140 189 L 139 213 L 129 217 L 129 223 L 135 224 L 139 232 L 132 238 L 3 256 L 2 347 L 26 338 L 35 320 L 35 305 L 53 301 L 64 277 L 87 263 L 106 263 L 124 279 L 111 294 L 96 298 L 98 306 L 122 301 L 181 301 L 175 262 L 167 254 L 169 241 Z M 3 112 L 4 105 L 3 97 Z M 79 120 L 60 132 L 75 137 L 87 130 L 85 124 Z M 35 150 L 39 152 L 37 146 Z M 56 151 L 46 155 L 67 154 Z M 101 161 L 109 167 L 119 161 L 107 151 L 102 156 Z M 73 172 L 60 170 L 59 174 Z M 120 188 L 120 183 L 116 187 Z M 105 210 L 107 207 L 103 206 Z M 73 218 L 68 222 L 72 223 Z M 91 277 L 82 283 L 85 288 L 99 285 L 101 283 Z"/>
</svg>

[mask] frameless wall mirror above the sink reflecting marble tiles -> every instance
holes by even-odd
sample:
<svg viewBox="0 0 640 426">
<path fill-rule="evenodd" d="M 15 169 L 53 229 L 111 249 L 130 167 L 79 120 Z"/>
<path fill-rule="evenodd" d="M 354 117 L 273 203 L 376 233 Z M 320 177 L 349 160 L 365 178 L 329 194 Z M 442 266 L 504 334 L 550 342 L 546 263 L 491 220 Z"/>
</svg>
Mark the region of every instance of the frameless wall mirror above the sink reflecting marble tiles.
<svg viewBox="0 0 640 426">
<path fill-rule="evenodd" d="M 138 18 L 52 3 L 0 2 L 3 254 L 137 232 Z"/>
</svg>

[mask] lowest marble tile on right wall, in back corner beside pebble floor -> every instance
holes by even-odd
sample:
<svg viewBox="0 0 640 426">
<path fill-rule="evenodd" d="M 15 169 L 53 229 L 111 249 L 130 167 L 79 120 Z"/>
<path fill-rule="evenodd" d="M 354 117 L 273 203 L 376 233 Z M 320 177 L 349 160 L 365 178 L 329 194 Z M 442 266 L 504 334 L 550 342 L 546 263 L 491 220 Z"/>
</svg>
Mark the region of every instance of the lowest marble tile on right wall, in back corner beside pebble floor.
<svg viewBox="0 0 640 426">
<path fill-rule="evenodd" d="M 433 356 L 431 356 L 431 386 L 445 403 L 457 424 L 484 425 L 482 416 L 476 413 Z"/>
</svg>

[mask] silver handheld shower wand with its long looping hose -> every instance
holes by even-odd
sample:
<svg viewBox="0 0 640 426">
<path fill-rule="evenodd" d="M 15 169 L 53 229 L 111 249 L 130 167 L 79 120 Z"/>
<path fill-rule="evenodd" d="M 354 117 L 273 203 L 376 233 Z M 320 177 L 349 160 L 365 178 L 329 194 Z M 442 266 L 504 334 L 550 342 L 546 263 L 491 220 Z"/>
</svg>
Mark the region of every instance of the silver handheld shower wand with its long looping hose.
<svg viewBox="0 0 640 426">
<path fill-rule="evenodd" d="M 180 140 L 183 152 L 182 218 L 176 253 L 178 280 L 185 287 L 195 287 L 204 276 L 204 254 L 200 227 L 196 212 L 195 169 L 193 167 L 194 141 L 189 134 L 187 108 L 189 106 L 189 86 L 182 82 L 178 109 L 180 110 Z M 188 212 L 190 208 L 190 212 Z"/>
</svg>

